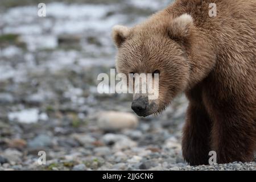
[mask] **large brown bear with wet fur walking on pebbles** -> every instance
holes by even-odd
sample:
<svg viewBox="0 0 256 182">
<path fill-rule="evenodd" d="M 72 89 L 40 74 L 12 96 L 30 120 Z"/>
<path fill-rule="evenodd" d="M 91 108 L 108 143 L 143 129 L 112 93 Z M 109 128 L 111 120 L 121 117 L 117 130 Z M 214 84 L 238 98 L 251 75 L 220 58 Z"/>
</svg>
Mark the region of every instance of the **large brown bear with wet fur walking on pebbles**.
<svg viewBox="0 0 256 182">
<path fill-rule="evenodd" d="M 210 3 L 217 15 L 210 16 Z M 254 160 L 256 1 L 177 0 L 133 28 L 115 26 L 117 71 L 159 73 L 159 98 L 134 97 L 141 116 L 189 100 L 182 150 L 191 165 Z"/>
</svg>

